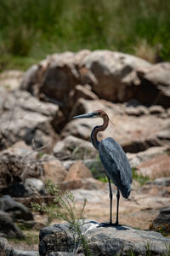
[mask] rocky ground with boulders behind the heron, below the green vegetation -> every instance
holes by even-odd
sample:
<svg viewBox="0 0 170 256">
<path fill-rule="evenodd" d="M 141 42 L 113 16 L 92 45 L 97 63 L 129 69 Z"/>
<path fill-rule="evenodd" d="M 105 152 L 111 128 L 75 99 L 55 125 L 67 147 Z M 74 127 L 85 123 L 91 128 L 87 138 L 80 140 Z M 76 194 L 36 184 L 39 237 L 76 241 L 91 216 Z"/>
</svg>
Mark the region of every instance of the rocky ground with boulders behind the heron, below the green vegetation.
<svg viewBox="0 0 170 256">
<path fill-rule="evenodd" d="M 78 208 L 87 198 L 85 218 L 109 220 L 109 187 L 89 140 L 101 121 L 72 119 L 96 109 L 111 119 L 99 140 L 114 137 L 133 170 L 131 195 L 120 201 L 121 224 L 169 236 L 169 80 L 168 62 L 153 65 L 108 50 L 49 55 L 26 73 L 2 73 L 0 236 L 10 238 L 15 249 L 37 251 L 38 241 L 26 245 L 26 237 L 38 234 L 48 218 L 28 207 L 31 201 L 53 201 L 44 189 L 47 178 L 71 190 Z"/>
</svg>

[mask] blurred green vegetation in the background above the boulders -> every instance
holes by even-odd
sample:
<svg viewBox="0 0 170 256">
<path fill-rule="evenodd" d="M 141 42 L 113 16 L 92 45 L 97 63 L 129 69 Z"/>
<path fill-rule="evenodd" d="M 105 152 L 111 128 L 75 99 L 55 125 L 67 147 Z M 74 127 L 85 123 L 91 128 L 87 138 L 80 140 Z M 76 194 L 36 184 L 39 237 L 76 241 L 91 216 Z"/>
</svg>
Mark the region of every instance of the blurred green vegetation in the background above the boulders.
<svg viewBox="0 0 170 256">
<path fill-rule="evenodd" d="M 168 0 L 0 0 L 0 70 L 65 50 L 170 60 Z"/>
</svg>

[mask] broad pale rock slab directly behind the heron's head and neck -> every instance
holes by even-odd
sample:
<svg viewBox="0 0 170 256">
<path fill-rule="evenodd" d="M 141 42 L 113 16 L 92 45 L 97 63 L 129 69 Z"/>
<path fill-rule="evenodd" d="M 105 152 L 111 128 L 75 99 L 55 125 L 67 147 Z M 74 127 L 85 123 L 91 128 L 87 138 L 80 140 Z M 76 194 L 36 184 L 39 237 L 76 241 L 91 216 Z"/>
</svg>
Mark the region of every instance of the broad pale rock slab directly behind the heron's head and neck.
<svg viewBox="0 0 170 256">
<path fill-rule="evenodd" d="M 126 152 L 136 153 L 154 146 L 168 145 L 168 140 L 157 137 L 160 131 L 166 130 L 170 125 L 170 119 L 161 119 L 153 114 L 143 114 L 138 119 L 133 115 L 127 115 L 123 104 L 113 104 L 103 100 L 88 101 L 79 99 L 71 113 L 73 116 L 82 113 L 93 112 L 102 109 L 108 115 L 114 125 L 99 133 L 99 139 L 114 137 L 117 143 L 122 145 Z M 100 125 L 99 119 L 73 119 L 61 131 L 62 137 L 69 135 L 89 140 L 90 133 L 95 125 Z"/>
</svg>

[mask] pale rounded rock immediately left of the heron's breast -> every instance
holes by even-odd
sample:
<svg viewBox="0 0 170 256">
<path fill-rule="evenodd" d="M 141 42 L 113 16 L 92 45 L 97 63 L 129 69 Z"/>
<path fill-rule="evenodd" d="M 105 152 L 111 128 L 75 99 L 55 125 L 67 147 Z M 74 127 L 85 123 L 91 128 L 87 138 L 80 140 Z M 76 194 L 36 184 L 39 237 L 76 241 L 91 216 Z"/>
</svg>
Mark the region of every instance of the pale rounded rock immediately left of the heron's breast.
<svg viewBox="0 0 170 256">
<path fill-rule="evenodd" d="M 54 155 L 60 160 L 80 160 L 96 155 L 96 150 L 91 143 L 80 138 L 68 136 L 54 146 Z"/>
</svg>

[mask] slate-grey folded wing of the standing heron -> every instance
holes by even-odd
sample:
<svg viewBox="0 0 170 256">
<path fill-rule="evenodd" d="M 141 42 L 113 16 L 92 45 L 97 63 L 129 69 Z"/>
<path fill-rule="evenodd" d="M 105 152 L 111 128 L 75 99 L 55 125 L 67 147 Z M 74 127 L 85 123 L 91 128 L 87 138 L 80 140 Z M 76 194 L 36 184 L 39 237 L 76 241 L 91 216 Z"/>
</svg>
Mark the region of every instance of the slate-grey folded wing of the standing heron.
<svg viewBox="0 0 170 256">
<path fill-rule="evenodd" d="M 99 157 L 117 187 L 132 183 L 132 171 L 122 147 L 111 137 L 99 143 Z"/>
</svg>

